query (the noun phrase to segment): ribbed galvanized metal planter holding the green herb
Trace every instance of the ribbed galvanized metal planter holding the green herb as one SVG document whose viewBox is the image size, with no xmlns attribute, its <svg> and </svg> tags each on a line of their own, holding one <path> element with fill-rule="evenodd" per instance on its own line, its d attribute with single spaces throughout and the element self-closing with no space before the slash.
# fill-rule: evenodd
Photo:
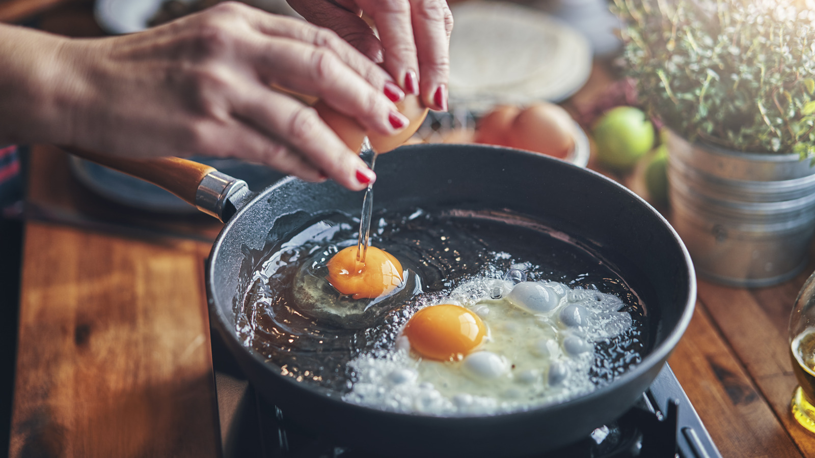
<svg viewBox="0 0 815 458">
<path fill-rule="evenodd" d="M 815 167 L 667 137 L 671 223 L 699 275 L 760 287 L 795 276 L 815 233 Z"/>
</svg>

